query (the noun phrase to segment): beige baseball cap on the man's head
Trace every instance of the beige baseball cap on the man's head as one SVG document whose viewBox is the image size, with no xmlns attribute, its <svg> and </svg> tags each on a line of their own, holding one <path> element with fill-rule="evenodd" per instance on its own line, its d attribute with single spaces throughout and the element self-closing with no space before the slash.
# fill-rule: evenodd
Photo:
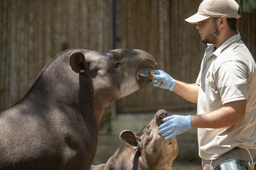
<svg viewBox="0 0 256 170">
<path fill-rule="evenodd" d="M 239 5 L 235 0 L 203 0 L 196 14 L 185 21 L 196 24 L 210 17 L 239 18 L 241 17 Z"/>
</svg>

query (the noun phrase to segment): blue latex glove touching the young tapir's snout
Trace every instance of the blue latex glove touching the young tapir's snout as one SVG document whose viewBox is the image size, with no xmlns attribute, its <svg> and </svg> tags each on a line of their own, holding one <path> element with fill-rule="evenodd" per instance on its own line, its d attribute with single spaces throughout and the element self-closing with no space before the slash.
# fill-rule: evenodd
<svg viewBox="0 0 256 170">
<path fill-rule="evenodd" d="M 182 134 L 191 128 L 191 115 L 171 115 L 163 119 L 165 123 L 159 126 L 162 136 L 166 136 L 165 139 L 170 139 L 176 135 Z"/>
</svg>

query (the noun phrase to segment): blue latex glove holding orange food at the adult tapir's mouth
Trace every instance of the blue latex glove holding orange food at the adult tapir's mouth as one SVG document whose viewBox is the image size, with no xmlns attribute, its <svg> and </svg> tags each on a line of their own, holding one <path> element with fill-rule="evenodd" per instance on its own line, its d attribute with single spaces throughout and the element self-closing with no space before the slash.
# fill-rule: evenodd
<svg viewBox="0 0 256 170">
<path fill-rule="evenodd" d="M 150 77 L 150 73 L 149 73 L 149 70 L 145 70 L 144 71 L 146 74 L 145 74 L 145 77 Z M 155 79 L 159 79 L 162 81 L 162 83 L 160 85 L 157 84 L 157 80 L 152 80 L 152 83 L 153 83 L 153 86 L 155 87 L 160 87 L 162 89 L 169 89 L 172 91 L 174 85 L 175 85 L 175 79 L 172 78 L 169 74 L 165 73 L 164 71 L 162 70 L 154 70 L 154 73 L 152 76 L 155 78 Z"/>
</svg>

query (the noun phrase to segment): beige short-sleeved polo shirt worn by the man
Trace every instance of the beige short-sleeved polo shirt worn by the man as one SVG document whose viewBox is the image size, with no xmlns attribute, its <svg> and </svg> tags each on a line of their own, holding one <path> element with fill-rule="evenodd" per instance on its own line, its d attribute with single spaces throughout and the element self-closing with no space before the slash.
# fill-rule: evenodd
<svg viewBox="0 0 256 170">
<path fill-rule="evenodd" d="M 256 64 L 240 34 L 214 52 L 208 44 L 196 83 L 200 85 L 197 114 L 215 111 L 223 104 L 247 99 L 242 123 L 220 129 L 198 128 L 199 156 L 218 159 L 239 144 L 256 149 Z M 242 148 L 242 147 L 241 147 Z"/>
</svg>

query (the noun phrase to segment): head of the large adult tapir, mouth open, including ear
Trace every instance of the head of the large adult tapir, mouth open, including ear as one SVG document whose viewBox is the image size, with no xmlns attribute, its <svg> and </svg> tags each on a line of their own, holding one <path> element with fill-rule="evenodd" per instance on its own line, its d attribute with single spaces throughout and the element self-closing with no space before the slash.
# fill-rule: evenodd
<svg viewBox="0 0 256 170">
<path fill-rule="evenodd" d="M 137 49 L 74 51 L 69 63 L 74 72 L 91 79 L 96 94 L 110 101 L 142 89 L 151 80 L 141 72 L 156 67 L 149 53 Z"/>
</svg>

